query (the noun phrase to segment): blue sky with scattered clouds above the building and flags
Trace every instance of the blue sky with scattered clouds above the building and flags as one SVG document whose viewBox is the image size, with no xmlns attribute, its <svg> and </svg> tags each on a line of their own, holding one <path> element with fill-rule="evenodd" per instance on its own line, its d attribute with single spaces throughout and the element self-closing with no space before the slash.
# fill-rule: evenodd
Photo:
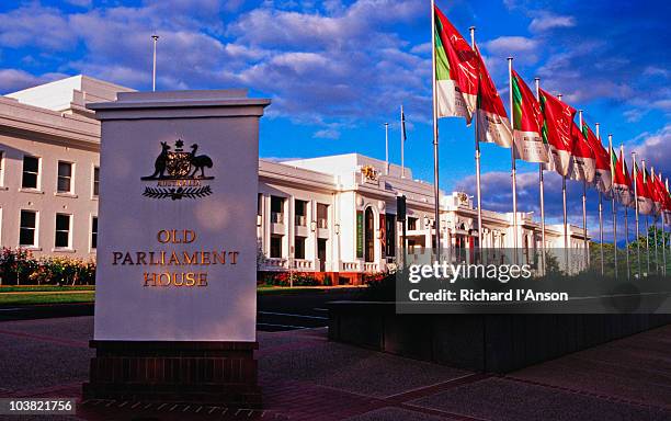
<svg viewBox="0 0 671 421">
<path fill-rule="evenodd" d="M 671 171 L 671 5 L 666 1 L 436 1 L 464 34 L 475 25 L 507 98 L 505 57 L 528 83 L 562 93 L 615 144 Z M 248 87 L 273 99 L 261 156 L 357 151 L 399 161 L 398 114 L 408 121 L 406 163 L 432 180 L 430 7 L 427 0 L 65 0 L 0 3 L 0 93 L 84 73 L 138 90 Z M 441 186 L 473 192 L 474 134 L 443 118 Z M 485 205 L 509 210 L 510 155 L 482 146 Z M 537 170 L 520 163 L 521 208 L 537 212 Z M 547 177 L 558 221 L 560 180 Z M 575 185 L 573 185 L 575 184 Z M 571 183 L 571 221 L 581 186 Z M 590 225 L 595 221 L 590 195 Z"/>
</svg>

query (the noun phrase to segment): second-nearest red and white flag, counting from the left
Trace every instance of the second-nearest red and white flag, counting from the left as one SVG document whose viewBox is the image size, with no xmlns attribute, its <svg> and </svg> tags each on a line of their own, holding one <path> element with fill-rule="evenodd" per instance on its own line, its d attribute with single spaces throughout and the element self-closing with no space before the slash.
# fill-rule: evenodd
<svg viewBox="0 0 671 421">
<path fill-rule="evenodd" d="M 476 117 L 478 120 L 478 140 L 488 144 L 497 144 L 504 148 L 512 147 L 512 129 L 510 120 L 505 113 L 503 101 L 499 96 L 497 87 L 485 67 L 480 50 L 476 46 L 480 77 L 478 79 L 478 106 Z"/>
</svg>

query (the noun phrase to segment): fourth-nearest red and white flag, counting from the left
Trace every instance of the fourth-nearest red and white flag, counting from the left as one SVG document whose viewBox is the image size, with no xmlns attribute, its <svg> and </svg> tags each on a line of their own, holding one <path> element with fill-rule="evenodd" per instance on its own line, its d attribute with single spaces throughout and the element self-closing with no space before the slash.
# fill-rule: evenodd
<svg viewBox="0 0 671 421">
<path fill-rule="evenodd" d="M 549 146 L 547 169 L 557 171 L 559 175 L 568 175 L 573 148 L 571 123 L 576 116 L 576 109 L 543 89 L 539 89 L 538 93 L 544 116 L 543 140 Z"/>
</svg>

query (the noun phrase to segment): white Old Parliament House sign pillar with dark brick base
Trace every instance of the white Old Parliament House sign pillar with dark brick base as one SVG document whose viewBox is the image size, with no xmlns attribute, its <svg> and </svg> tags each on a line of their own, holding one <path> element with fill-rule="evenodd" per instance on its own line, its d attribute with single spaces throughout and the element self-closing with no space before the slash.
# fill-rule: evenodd
<svg viewBox="0 0 671 421">
<path fill-rule="evenodd" d="M 257 192 L 269 104 L 220 90 L 89 105 L 102 140 L 84 396 L 260 405 Z"/>
</svg>

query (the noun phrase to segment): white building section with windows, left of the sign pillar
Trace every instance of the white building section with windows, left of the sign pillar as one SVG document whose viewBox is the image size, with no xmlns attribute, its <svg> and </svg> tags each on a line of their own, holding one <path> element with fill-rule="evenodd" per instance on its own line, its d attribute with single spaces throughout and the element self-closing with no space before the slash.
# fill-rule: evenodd
<svg viewBox="0 0 671 421">
<path fill-rule="evenodd" d="M 0 96 L 0 243 L 94 257 L 100 123 L 87 102 L 128 88 L 76 76 Z"/>
</svg>

